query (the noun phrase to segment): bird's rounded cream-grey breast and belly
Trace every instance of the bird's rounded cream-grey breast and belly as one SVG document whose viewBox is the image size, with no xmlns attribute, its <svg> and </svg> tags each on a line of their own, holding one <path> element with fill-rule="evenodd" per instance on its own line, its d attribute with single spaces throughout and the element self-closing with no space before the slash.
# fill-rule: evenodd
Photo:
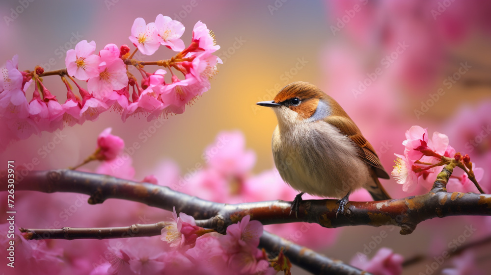
<svg viewBox="0 0 491 275">
<path fill-rule="evenodd" d="M 326 122 L 279 124 L 272 147 L 281 177 L 299 191 L 341 198 L 369 180 L 353 142 Z"/>
</svg>

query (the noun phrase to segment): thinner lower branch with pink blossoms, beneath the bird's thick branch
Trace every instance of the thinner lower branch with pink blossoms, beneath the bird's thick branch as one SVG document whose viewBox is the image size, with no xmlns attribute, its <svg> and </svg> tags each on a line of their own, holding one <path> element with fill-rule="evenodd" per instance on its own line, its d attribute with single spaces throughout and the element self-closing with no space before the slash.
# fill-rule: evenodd
<svg viewBox="0 0 491 275">
<path fill-rule="evenodd" d="M 182 246 L 187 249 L 192 249 L 195 246 L 196 239 L 204 233 L 208 233 L 210 229 L 204 229 L 196 226 L 192 217 L 180 213 L 179 217 L 174 210 L 175 228 L 178 224 L 185 224 L 182 231 L 187 232 L 182 234 L 178 232 L 168 232 L 166 228 L 172 227 L 172 223 L 160 222 L 153 225 L 131 225 L 128 227 L 111 227 L 111 228 L 70 228 L 63 227 L 61 229 L 25 229 L 20 228 L 23 236 L 28 240 L 43 240 L 46 236 L 50 239 L 111 239 L 111 238 L 136 238 L 145 236 L 162 235 L 161 239 L 169 241 L 174 246 Z M 262 260 L 268 260 L 277 271 L 285 271 L 291 268 L 291 263 L 305 269 L 312 274 L 339 274 L 339 275 L 370 275 L 366 271 L 361 271 L 353 266 L 344 264 L 339 260 L 330 259 L 322 254 L 299 246 L 293 242 L 285 240 L 268 231 L 258 232 L 262 229 L 262 225 L 257 221 L 250 221 L 250 216 L 245 216 L 242 221 L 237 224 L 230 225 L 227 228 L 225 238 L 232 239 L 222 241 L 224 244 L 233 241 L 234 237 L 246 236 L 246 242 L 250 242 L 250 249 L 256 247 L 264 249 L 273 257 L 261 254 Z M 187 222 L 184 222 L 186 220 Z M 191 224 L 190 224 L 191 223 Z M 241 224 L 244 227 L 241 229 Z M 186 230 L 186 226 L 188 230 Z M 178 237 L 175 237 L 177 233 Z M 41 235 L 40 235 L 41 234 Z M 259 237 L 260 238 L 257 238 Z M 259 240 L 259 242 L 258 242 Z M 171 245 L 172 246 L 172 245 Z M 286 257 L 285 257 L 286 256 Z M 291 259 L 291 260 L 290 260 Z"/>
</svg>

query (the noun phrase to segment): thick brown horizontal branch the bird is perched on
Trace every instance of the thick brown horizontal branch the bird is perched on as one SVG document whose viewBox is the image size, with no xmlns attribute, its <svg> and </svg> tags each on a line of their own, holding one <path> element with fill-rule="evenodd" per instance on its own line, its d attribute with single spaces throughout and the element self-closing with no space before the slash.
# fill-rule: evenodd
<svg viewBox="0 0 491 275">
<path fill-rule="evenodd" d="M 452 168 L 443 169 L 427 194 L 384 201 L 351 201 L 345 207 L 346 215 L 339 215 L 338 218 L 335 217 L 336 200 L 303 200 L 297 218 L 290 214 L 291 202 L 288 201 L 217 203 L 168 187 L 72 170 L 32 171 L 16 185 L 16 189 L 82 193 L 90 195 L 88 202 L 91 204 L 114 198 L 138 201 L 169 211 L 175 206 L 177 212 L 187 213 L 198 220 L 197 225 L 213 228 L 220 233 L 245 215 L 251 215 L 251 219 L 263 225 L 295 222 L 318 223 L 329 228 L 397 225 L 401 226 L 401 234 L 409 234 L 417 224 L 432 218 L 491 215 L 491 195 L 446 192 L 445 185 Z"/>
</svg>

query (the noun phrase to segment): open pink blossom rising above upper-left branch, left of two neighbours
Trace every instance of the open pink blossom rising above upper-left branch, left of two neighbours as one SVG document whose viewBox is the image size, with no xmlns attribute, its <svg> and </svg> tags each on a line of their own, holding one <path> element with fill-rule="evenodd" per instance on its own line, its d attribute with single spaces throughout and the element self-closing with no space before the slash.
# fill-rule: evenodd
<svg viewBox="0 0 491 275">
<path fill-rule="evenodd" d="M 93 40 L 90 43 L 82 40 L 75 45 L 75 50 L 67 50 L 65 65 L 68 75 L 73 75 L 80 80 L 99 75 L 97 72 L 99 58 L 93 54 L 94 51 L 95 42 Z"/>
</svg>

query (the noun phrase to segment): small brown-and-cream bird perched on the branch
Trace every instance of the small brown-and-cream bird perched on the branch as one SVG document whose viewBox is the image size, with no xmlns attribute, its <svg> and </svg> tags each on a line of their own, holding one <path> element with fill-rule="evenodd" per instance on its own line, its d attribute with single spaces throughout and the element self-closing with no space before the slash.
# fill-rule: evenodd
<svg viewBox="0 0 491 275">
<path fill-rule="evenodd" d="M 344 214 L 349 195 L 364 187 L 374 200 L 390 200 L 378 177 L 389 178 L 372 145 L 341 106 L 308 82 L 286 85 L 273 101 L 278 125 L 273 132 L 274 164 L 285 182 L 300 194 L 338 198 Z M 291 213 L 291 212 L 290 212 Z"/>
</svg>

